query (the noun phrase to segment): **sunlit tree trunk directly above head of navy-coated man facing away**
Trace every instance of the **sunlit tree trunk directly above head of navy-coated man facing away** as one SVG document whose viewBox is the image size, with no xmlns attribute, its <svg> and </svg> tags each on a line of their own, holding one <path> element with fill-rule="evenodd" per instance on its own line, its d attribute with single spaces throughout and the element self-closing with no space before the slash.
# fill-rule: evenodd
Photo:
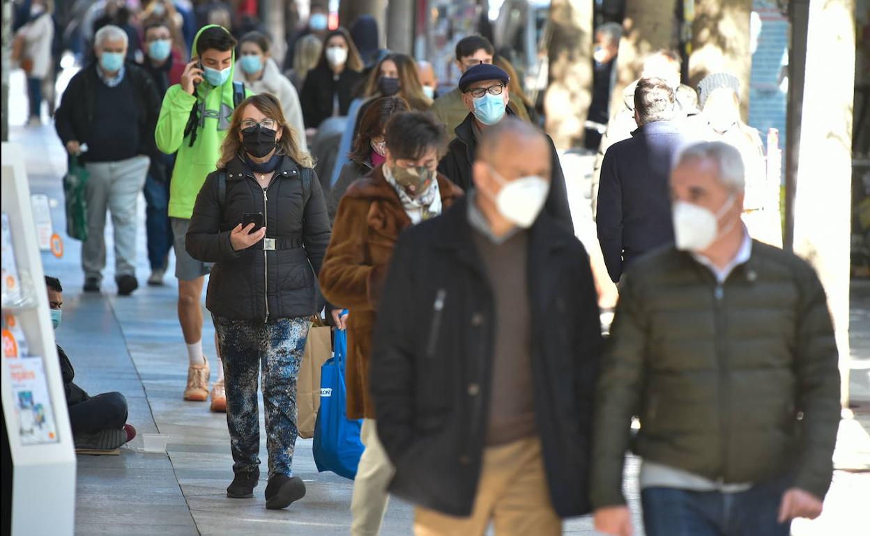
<svg viewBox="0 0 870 536">
<path fill-rule="evenodd" d="M 656 50 L 673 48 L 676 0 L 627 0 L 624 33 L 616 56 L 616 83 L 613 85 L 610 113 L 622 109 L 626 86 L 640 77 L 644 59 Z"/>
</svg>

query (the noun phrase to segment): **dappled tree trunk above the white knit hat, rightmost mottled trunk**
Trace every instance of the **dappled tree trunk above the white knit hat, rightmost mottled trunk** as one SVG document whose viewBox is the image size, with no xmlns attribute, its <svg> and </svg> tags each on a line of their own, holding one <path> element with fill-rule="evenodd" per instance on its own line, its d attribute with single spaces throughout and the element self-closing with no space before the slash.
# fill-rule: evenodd
<svg viewBox="0 0 870 536">
<path fill-rule="evenodd" d="M 704 76 L 726 72 L 740 80 L 740 114 L 749 116 L 749 14 L 752 0 L 695 0 L 689 79 L 693 88 Z"/>
</svg>

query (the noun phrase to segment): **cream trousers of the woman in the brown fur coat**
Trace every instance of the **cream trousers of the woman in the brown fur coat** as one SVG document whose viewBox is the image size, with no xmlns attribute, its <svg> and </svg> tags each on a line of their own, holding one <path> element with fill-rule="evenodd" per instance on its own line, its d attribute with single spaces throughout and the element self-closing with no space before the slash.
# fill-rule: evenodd
<svg viewBox="0 0 870 536">
<path fill-rule="evenodd" d="M 359 439 L 365 450 L 359 458 L 357 478 L 353 480 L 351 536 L 377 536 L 390 500 L 386 488 L 395 469 L 378 440 L 376 420 L 363 420 Z"/>
</svg>

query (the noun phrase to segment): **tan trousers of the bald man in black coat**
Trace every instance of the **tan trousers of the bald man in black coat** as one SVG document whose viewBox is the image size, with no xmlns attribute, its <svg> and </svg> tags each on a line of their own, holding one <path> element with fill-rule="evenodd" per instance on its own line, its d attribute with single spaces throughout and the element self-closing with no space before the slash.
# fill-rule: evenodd
<svg viewBox="0 0 870 536">
<path fill-rule="evenodd" d="M 414 509 L 416 536 L 482 536 L 492 520 L 496 536 L 552 536 L 562 519 L 552 509 L 537 436 L 484 451 L 471 517 Z"/>
</svg>

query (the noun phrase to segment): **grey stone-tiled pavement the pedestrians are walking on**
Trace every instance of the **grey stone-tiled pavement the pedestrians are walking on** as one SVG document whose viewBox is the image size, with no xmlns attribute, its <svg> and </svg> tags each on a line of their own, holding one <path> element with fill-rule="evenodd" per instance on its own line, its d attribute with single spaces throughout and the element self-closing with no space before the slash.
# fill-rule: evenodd
<svg viewBox="0 0 870 536">
<path fill-rule="evenodd" d="M 20 71 L 10 80 L 10 119 L 26 120 L 24 80 Z M 44 117 L 48 122 L 48 118 Z M 14 126 L 11 142 L 26 157 L 32 193 L 49 195 L 56 231 L 64 235 L 61 177 L 66 160 L 53 125 Z M 585 196 L 588 159 L 563 160 L 578 234 L 594 233 L 589 217 L 578 211 Z M 591 217 L 591 215 L 590 215 Z M 176 282 L 171 264 L 166 286 L 149 288 L 145 253 L 144 199 L 139 201 L 137 276 L 142 287 L 132 297 L 117 297 L 110 224 L 107 226 L 107 266 L 103 294 L 82 294 L 80 244 L 64 240 L 64 256 L 43 254 L 46 274 L 64 284 L 64 324 L 57 340 L 76 366 L 76 380 L 90 393 L 121 391 L 130 404 L 130 420 L 139 433 L 171 435 L 167 454 L 144 454 L 140 439 L 120 456 L 79 456 L 77 481 L 78 534 L 346 534 L 350 526 L 352 482 L 332 473 L 318 473 L 311 457 L 311 440 L 299 440 L 294 471 L 308 486 L 304 500 L 284 511 L 266 511 L 261 481 L 254 499 L 231 500 L 224 488 L 231 480 L 231 455 L 224 415 L 211 414 L 208 404 L 181 399 L 186 378 L 186 353 L 177 326 Z M 204 347 L 214 365 L 213 330 L 205 321 Z M 851 386 L 856 420 L 844 421 L 838 462 L 853 469 L 870 469 L 870 283 L 853 284 L 853 370 Z M 214 373 L 212 374 L 214 379 Z M 861 426 L 861 424 L 863 426 Z M 264 437 L 264 433 L 261 433 Z M 265 473 L 266 454 L 260 454 Z M 636 514 L 639 508 L 635 460 L 626 473 L 626 493 Z M 870 473 L 838 471 L 826 510 L 814 522 L 793 524 L 795 536 L 865 536 L 870 526 L 867 500 Z M 382 533 L 408 534 L 412 509 L 393 500 Z M 566 533 L 596 534 L 591 519 L 566 522 Z"/>
</svg>

